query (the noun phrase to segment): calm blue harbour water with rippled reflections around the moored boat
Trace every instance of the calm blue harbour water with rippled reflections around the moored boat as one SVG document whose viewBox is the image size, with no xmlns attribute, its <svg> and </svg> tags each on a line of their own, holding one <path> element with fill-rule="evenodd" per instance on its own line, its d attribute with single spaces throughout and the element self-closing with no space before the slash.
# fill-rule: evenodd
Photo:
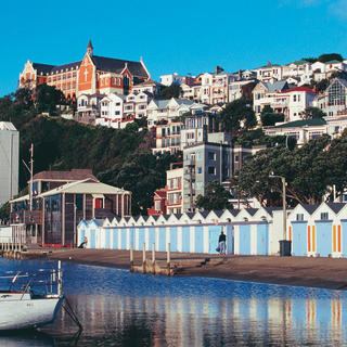
<svg viewBox="0 0 347 347">
<path fill-rule="evenodd" d="M 52 267 L 0 258 L 0 273 Z M 0 346 L 347 346 L 346 292 L 62 268 L 80 336 L 62 310 L 41 333 L 1 334 Z"/>
</svg>

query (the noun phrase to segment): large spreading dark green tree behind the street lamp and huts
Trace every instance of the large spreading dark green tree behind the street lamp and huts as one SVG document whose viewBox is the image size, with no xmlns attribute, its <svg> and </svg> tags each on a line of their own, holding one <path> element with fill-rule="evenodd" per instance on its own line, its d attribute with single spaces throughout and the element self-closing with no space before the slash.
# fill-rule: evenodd
<svg viewBox="0 0 347 347">
<path fill-rule="evenodd" d="M 333 184 L 329 170 L 329 137 L 323 136 L 293 151 L 278 146 L 258 152 L 239 172 L 239 187 L 262 205 L 271 204 L 282 194 L 280 180 L 269 179 L 270 172 L 274 172 L 285 177 L 288 201 L 319 203 Z"/>
</svg>

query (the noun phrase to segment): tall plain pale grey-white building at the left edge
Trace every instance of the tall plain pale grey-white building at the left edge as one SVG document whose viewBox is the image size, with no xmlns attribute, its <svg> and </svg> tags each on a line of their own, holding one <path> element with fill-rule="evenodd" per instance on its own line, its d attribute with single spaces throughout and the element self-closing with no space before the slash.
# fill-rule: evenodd
<svg viewBox="0 0 347 347">
<path fill-rule="evenodd" d="M 0 121 L 0 206 L 18 194 L 20 132 Z"/>
</svg>

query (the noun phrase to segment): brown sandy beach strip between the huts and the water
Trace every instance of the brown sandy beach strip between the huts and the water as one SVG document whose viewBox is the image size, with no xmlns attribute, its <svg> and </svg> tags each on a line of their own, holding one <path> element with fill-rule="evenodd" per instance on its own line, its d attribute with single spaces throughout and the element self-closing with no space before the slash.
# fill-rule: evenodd
<svg viewBox="0 0 347 347">
<path fill-rule="evenodd" d="M 54 249 L 48 253 L 48 258 L 121 269 L 130 268 L 129 250 Z M 146 259 L 151 260 L 151 252 L 146 253 Z M 205 264 L 206 259 L 209 261 Z M 141 265 L 142 252 L 133 252 L 133 260 L 134 265 Z M 156 260 L 165 267 L 166 253 L 157 252 Z M 347 290 L 347 259 L 345 258 L 171 253 L 171 264 L 177 267 L 178 275 Z"/>
</svg>

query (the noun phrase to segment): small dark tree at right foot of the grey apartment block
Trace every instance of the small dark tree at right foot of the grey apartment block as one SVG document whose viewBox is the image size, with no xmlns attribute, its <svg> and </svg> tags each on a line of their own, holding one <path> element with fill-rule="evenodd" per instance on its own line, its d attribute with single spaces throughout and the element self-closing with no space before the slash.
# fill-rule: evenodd
<svg viewBox="0 0 347 347">
<path fill-rule="evenodd" d="M 229 202 L 231 194 L 218 181 L 209 182 L 205 195 L 197 195 L 195 205 L 205 210 L 233 208 Z"/>
</svg>

